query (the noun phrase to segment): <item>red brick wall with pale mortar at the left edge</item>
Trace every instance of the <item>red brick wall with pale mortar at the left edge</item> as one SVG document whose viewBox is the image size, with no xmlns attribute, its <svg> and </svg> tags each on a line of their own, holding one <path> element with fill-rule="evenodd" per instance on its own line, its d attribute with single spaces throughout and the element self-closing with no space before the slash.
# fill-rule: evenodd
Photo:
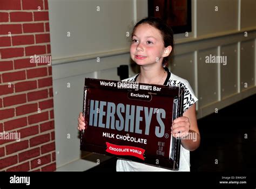
<svg viewBox="0 0 256 189">
<path fill-rule="evenodd" d="M 0 1 L 0 171 L 54 171 L 47 0 Z"/>
</svg>

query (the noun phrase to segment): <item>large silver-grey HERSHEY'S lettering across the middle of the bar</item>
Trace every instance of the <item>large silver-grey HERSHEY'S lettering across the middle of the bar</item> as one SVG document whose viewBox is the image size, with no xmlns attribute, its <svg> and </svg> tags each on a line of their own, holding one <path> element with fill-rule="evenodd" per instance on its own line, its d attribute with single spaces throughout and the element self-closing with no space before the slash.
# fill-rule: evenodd
<svg viewBox="0 0 256 189">
<path fill-rule="evenodd" d="M 105 106 L 106 108 L 104 108 Z M 106 109 L 106 111 L 104 111 L 104 109 Z M 144 111 L 143 117 L 140 116 L 141 111 Z M 124 113 L 125 117 L 123 117 L 122 113 Z M 124 105 L 123 103 L 118 103 L 116 105 L 113 102 L 91 100 L 89 125 L 149 135 L 153 114 L 156 116 L 159 124 L 155 126 L 155 134 L 159 138 L 163 137 L 165 125 L 162 118 L 165 118 L 165 110 L 161 108 L 149 108 L 130 104 Z M 117 115 L 118 119 L 116 119 L 114 115 Z M 106 116 L 105 123 L 103 123 L 103 116 Z M 145 119 L 145 128 L 142 128 L 140 125 L 143 118 Z"/>
</svg>

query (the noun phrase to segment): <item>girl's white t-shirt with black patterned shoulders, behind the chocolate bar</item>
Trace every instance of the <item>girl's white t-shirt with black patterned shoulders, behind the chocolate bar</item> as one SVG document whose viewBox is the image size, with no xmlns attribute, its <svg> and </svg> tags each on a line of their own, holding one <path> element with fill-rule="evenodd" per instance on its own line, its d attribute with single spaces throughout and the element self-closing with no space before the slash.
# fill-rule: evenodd
<svg viewBox="0 0 256 189">
<path fill-rule="evenodd" d="M 193 89 L 190 86 L 190 83 L 180 78 L 177 75 L 174 75 L 169 71 L 168 68 L 165 68 L 167 71 L 167 78 L 164 82 L 166 86 L 175 86 L 175 87 L 184 87 L 184 103 L 183 103 L 183 111 L 185 112 L 189 107 L 191 107 L 194 103 L 198 101 L 197 97 L 194 95 Z M 132 76 L 131 78 L 127 78 L 124 81 L 136 81 L 137 75 Z M 180 162 L 179 162 L 179 171 L 190 171 L 190 151 L 180 146 Z M 169 169 L 163 169 L 156 166 L 146 165 L 143 163 L 132 162 L 130 160 L 117 160 L 117 171 L 172 171 Z"/>
</svg>

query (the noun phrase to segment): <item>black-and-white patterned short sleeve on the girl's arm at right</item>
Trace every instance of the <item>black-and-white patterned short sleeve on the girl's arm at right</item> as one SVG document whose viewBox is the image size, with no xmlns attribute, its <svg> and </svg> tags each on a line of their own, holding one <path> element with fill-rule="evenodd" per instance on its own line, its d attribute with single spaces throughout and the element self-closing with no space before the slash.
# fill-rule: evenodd
<svg viewBox="0 0 256 189">
<path fill-rule="evenodd" d="M 194 103 L 198 101 L 196 95 L 194 95 L 193 89 L 190 86 L 190 83 L 185 80 L 183 86 L 185 88 L 184 92 L 184 101 L 183 101 L 183 112 L 185 112 L 188 108 L 190 108 Z"/>
</svg>

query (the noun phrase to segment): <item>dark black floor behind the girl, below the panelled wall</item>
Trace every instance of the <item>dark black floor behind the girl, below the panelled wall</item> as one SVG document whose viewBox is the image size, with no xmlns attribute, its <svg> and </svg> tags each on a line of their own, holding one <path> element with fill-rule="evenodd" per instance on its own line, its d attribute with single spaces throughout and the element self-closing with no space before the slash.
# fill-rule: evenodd
<svg viewBox="0 0 256 189">
<path fill-rule="evenodd" d="M 191 172 L 254 172 L 256 169 L 256 95 L 198 120 L 201 144 L 191 152 Z M 115 172 L 111 158 L 88 172 Z"/>
</svg>

